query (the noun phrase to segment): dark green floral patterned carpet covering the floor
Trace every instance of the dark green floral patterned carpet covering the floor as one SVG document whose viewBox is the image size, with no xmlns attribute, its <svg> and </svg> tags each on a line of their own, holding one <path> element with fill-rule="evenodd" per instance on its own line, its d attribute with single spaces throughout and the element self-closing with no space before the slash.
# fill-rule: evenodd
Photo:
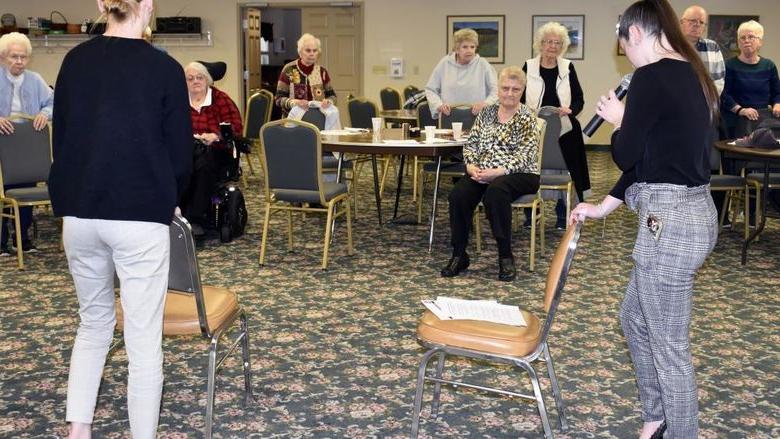
<svg viewBox="0 0 780 439">
<path fill-rule="evenodd" d="M 591 152 L 594 199 L 616 179 L 609 155 Z M 256 166 L 256 168 L 258 168 Z M 432 254 L 425 226 L 379 227 L 363 175 L 355 250 L 346 254 L 337 225 L 330 267 L 319 269 L 323 221 L 297 220 L 296 249 L 286 251 L 281 218 L 272 225 L 265 267 L 257 263 L 260 178 L 250 176 L 248 234 L 233 243 L 206 243 L 199 257 L 206 284 L 238 293 L 249 315 L 256 402 L 242 404 L 238 356 L 218 379 L 215 436 L 401 438 L 410 428 L 421 298 L 450 295 L 495 298 L 540 312 L 550 249 L 561 232 L 548 221 L 547 253 L 526 271 L 528 232 L 516 233 L 517 280 L 496 280 L 497 257 L 483 221 L 486 248 L 472 252 L 466 275 L 439 277 L 449 256 L 446 202 Z M 444 191 L 451 185 L 445 182 Z M 388 191 L 389 193 L 389 191 Z M 402 196 L 403 213 L 414 206 Z M 388 196 L 385 212 L 391 205 Z M 552 208 L 548 208 L 552 214 Z M 0 260 L 0 436 L 63 437 L 70 350 L 78 316 L 76 296 L 57 221 L 39 212 L 39 253 L 28 269 Z M 567 404 L 570 429 L 557 427 L 549 382 L 542 381 L 551 422 L 562 438 L 636 437 L 641 420 L 628 349 L 617 313 L 631 266 L 635 216 L 625 207 L 606 222 L 588 222 L 569 275 L 550 346 Z M 697 282 L 691 327 L 703 438 L 780 437 L 780 312 L 777 292 L 778 221 L 740 265 L 740 236 L 725 231 Z M 160 436 L 197 437 L 205 411 L 206 342 L 165 338 L 165 389 Z M 129 437 L 126 356 L 109 358 L 94 422 L 95 437 Z M 525 376 L 506 367 L 448 362 L 447 374 L 485 384 L 528 389 Z M 430 396 L 430 393 L 427 394 Z M 541 437 L 535 405 L 469 389 L 444 387 L 438 419 L 423 412 L 424 437 Z"/>
</svg>

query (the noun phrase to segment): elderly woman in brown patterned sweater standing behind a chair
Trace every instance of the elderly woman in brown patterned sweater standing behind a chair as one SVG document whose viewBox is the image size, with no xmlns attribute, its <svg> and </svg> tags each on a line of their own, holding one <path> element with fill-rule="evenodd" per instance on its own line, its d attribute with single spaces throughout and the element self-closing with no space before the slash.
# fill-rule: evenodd
<svg viewBox="0 0 780 439">
<path fill-rule="evenodd" d="M 311 108 L 325 115 L 325 129 L 340 129 L 336 92 L 325 67 L 317 63 L 322 52 L 319 38 L 303 34 L 298 39 L 298 59 L 287 63 L 279 74 L 274 102 L 285 117 L 300 119 Z"/>
</svg>

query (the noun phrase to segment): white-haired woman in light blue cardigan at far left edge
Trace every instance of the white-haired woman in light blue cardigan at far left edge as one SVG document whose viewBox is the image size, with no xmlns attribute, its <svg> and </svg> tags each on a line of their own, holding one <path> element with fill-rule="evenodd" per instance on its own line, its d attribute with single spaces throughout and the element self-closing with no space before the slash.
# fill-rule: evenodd
<svg viewBox="0 0 780 439">
<path fill-rule="evenodd" d="M 14 114 L 34 116 L 33 127 L 36 130 L 44 129 L 51 119 L 54 94 L 41 75 L 26 70 L 31 54 L 32 45 L 26 35 L 11 32 L 0 37 L 0 58 L 3 61 L 0 64 L 0 135 L 13 135 Z M 8 185 L 5 189 L 18 187 Z M 35 245 L 27 236 L 27 229 L 32 224 L 32 208 L 21 208 L 19 216 L 22 250 L 34 252 Z M 0 228 L 0 256 L 8 256 L 10 253 L 7 218 L 4 217 Z"/>
</svg>

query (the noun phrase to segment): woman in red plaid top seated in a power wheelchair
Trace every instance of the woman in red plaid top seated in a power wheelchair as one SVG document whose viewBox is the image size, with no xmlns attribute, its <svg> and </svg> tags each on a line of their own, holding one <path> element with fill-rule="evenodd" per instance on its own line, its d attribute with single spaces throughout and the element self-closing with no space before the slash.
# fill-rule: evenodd
<svg viewBox="0 0 780 439">
<path fill-rule="evenodd" d="M 179 204 L 192 224 L 193 235 L 203 235 L 211 196 L 217 184 L 225 179 L 227 170 L 235 164 L 222 139 L 219 124 L 229 123 L 236 134 L 244 129 L 235 102 L 213 86 L 215 80 L 222 79 L 225 70 L 225 63 L 202 61 L 191 62 L 184 68 L 193 137 L 206 146 L 195 160 L 190 184 Z"/>
</svg>

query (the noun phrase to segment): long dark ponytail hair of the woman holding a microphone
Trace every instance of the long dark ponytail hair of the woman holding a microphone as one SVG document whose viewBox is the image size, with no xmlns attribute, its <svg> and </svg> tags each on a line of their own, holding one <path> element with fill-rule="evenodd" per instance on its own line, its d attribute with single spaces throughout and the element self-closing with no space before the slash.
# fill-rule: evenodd
<svg viewBox="0 0 780 439">
<path fill-rule="evenodd" d="M 715 84 L 704 67 L 704 63 L 699 58 L 698 52 L 683 36 L 677 15 L 669 2 L 667 0 L 640 0 L 632 4 L 620 18 L 618 36 L 623 40 L 628 40 L 628 28 L 631 25 L 640 26 L 649 35 L 656 36 L 660 44 L 663 44 L 661 35 L 666 35 L 666 40 L 672 46 L 671 50 L 682 55 L 693 67 L 704 91 L 712 120 L 717 121 L 720 100 L 718 91 L 715 89 Z"/>
</svg>

